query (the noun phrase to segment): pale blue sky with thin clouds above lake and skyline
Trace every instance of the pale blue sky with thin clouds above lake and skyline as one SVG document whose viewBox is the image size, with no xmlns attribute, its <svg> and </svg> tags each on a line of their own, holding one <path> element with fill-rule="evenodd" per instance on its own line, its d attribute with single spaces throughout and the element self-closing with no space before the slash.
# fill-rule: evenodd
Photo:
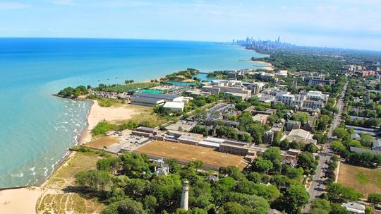
<svg viewBox="0 0 381 214">
<path fill-rule="evenodd" d="M 246 36 L 381 50 L 381 0 L 0 0 L 0 37 L 226 42 Z"/>
</svg>

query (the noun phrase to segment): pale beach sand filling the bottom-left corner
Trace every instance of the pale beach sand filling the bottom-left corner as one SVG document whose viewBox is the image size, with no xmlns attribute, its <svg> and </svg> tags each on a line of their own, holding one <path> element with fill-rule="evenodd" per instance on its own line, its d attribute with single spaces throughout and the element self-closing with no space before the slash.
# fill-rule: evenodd
<svg viewBox="0 0 381 214">
<path fill-rule="evenodd" d="M 36 203 L 44 189 L 25 187 L 0 191 L 0 213 L 36 213 Z"/>
</svg>

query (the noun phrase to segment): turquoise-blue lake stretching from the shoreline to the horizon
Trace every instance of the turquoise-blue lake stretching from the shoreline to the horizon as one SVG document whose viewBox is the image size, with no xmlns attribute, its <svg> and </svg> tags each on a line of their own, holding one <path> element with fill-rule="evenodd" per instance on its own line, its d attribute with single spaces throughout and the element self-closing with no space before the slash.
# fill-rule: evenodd
<svg viewBox="0 0 381 214">
<path fill-rule="evenodd" d="M 243 69 L 241 47 L 159 40 L 0 39 L 0 187 L 37 185 L 85 128 L 89 102 L 53 97 L 68 85 L 158 78 L 179 69 Z"/>
</svg>

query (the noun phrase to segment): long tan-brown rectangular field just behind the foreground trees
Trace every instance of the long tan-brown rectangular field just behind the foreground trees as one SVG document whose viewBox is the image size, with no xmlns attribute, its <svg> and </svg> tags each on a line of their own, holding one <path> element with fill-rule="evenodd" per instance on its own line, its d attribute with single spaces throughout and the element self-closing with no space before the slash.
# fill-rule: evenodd
<svg viewBox="0 0 381 214">
<path fill-rule="evenodd" d="M 176 160 L 183 161 L 201 160 L 205 165 L 213 165 L 216 167 L 234 165 L 243 169 L 243 167 L 246 166 L 246 164 L 242 161 L 243 156 L 219 153 L 213 148 L 188 145 L 185 143 L 152 141 L 151 143 L 141 146 L 135 151 L 145 153 L 147 155 L 175 158 Z"/>
</svg>

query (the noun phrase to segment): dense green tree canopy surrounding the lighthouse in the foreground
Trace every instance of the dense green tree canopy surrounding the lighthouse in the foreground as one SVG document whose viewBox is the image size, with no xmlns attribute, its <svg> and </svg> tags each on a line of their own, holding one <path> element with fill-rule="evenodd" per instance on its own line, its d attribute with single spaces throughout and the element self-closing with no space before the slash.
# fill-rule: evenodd
<svg viewBox="0 0 381 214">
<path fill-rule="evenodd" d="M 301 181 L 303 170 L 315 164 L 310 153 L 299 160 L 302 167 L 282 165 L 279 148 L 270 148 L 243 172 L 237 167 L 221 167 L 219 180 L 205 181 L 212 174 L 202 162 L 179 165 L 167 160 L 170 173 L 153 174 L 155 165 L 146 155 L 123 153 L 98 160 L 97 170 L 80 172 L 76 183 L 105 201 L 103 213 L 268 213 L 276 207 L 299 213 L 308 203 Z M 156 166 L 157 167 L 157 166 Z M 179 210 L 182 181 L 190 182 L 190 210 Z"/>
</svg>

